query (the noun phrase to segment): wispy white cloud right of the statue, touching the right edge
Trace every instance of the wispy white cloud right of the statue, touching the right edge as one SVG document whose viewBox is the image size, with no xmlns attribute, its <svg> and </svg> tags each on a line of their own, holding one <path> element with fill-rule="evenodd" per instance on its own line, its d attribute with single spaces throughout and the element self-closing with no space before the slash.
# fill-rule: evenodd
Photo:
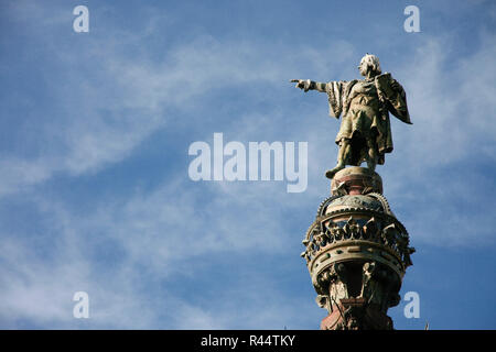
<svg viewBox="0 0 496 352">
<path fill-rule="evenodd" d="M 490 64 L 496 54 L 494 35 L 483 34 L 481 48 L 463 58 L 446 43 L 440 37 L 425 41 L 408 65 L 405 85 L 414 128 L 400 130 L 398 139 L 408 141 L 401 144 L 405 158 L 417 166 L 462 161 L 479 153 L 481 145 L 494 146 L 496 139 L 488 113 L 495 110 L 490 98 L 495 87 L 488 78 L 496 74 Z"/>
</svg>

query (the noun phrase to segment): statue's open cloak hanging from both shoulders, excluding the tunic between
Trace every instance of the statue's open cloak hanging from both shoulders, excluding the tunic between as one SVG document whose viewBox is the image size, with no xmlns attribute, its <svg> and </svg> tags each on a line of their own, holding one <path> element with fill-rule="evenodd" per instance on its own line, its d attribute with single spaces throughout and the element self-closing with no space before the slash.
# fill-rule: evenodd
<svg viewBox="0 0 496 352">
<path fill-rule="evenodd" d="M 351 81 L 330 81 L 326 84 L 330 116 L 336 119 L 338 119 L 339 116 L 343 116 L 339 133 L 337 134 L 335 141 L 336 144 L 339 144 L 343 138 L 351 139 L 355 132 L 354 130 L 348 131 L 346 129 L 349 129 L 352 125 L 349 123 L 349 120 L 353 119 L 353 116 L 349 112 L 349 105 L 353 99 L 351 92 L 357 82 L 358 80 L 354 79 Z M 396 82 L 397 85 L 392 85 L 392 82 Z M 376 76 L 374 84 L 379 103 L 378 107 L 376 107 L 377 111 L 375 111 L 376 113 L 374 114 L 374 118 L 369 121 L 369 128 L 370 131 L 374 131 L 371 135 L 375 136 L 377 151 L 379 153 L 378 164 L 384 164 L 385 154 L 392 152 L 392 135 L 389 112 L 405 123 L 411 124 L 411 122 L 410 114 L 408 112 L 407 96 L 401 85 L 399 85 L 390 74 Z M 396 89 L 393 89 L 392 87 L 396 86 Z M 362 161 L 365 161 L 364 153 L 357 156 L 353 164 L 359 165 Z"/>
</svg>

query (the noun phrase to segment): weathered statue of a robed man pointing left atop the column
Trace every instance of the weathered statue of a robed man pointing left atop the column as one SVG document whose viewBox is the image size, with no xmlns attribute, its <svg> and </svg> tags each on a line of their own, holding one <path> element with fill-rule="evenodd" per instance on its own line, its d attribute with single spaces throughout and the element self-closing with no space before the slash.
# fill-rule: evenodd
<svg viewBox="0 0 496 352">
<path fill-rule="evenodd" d="M 365 161 L 367 167 L 375 170 L 377 164 L 384 164 L 385 154 L 392 152 L 389 112 L 411 124 L 405 90 L 390 74 L 381 74 L 379 58 L 365 55 L 358 69 L 365 79 L 330 82 L 291 80 L 305 92 L 326 92 L 330 116 L 338 119 L 343 114 L 335 140 L 339 145 L 337 165 L 325 173 L 328 178 L 346 165 L 359 166 Z"/>
</svg>

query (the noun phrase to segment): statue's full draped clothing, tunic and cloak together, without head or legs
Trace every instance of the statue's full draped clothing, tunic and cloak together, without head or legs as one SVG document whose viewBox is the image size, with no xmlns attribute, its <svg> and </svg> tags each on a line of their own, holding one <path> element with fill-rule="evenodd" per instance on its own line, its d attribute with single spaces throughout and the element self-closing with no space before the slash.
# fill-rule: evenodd
<svg viewBox="0 0 496 352">
<path fill-rule="evenodd" d="M 392 81 L 390 74 L 385 74 L 375 79 L 330 81 L 325 85 L 330 116 L 336 119 L 343 116 L 336 144 L 348 139 L 352 140 L 352 150 L 355 147 L 352 165 L 359 165 L 368 152 L 363 142 L 359 151 L 356 150 L 354 136 L 374 141 L 378 164 L 384 164 L 385 154 L 392 152 L 389 111 L 401 121 L 411 123 L 405 90 L 399 84 L 397 90 L 391 89 Z"/>
</svg>

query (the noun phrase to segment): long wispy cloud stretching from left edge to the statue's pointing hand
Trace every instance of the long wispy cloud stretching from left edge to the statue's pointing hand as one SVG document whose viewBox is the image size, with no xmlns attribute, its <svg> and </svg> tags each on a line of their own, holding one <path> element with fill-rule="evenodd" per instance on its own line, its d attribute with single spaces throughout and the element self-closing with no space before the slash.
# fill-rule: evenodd
<svg viewBox="0 0 496 352">
<path fill-rule="evenodd" d="M 61 9 L 30 7 L 31 11 L 12 10 L 12 14 L 26 22 L 43 18 L 50 25 L 62 24 Z M 51 21 L 52 16 L 58 20 Z M 155 16 L 160 20 L 162 15 Z M 148 58 L 148 48 L 140 46 L 148 35 L 160 31 L 163 23 L 155 16 L 144 32 L 108 29 L 110 33 L 91 37 L 80 51 L 61 40 L 30 33 L 61 65 L 55 77 L 45 79 L 63 79 L 64 84 L 47 86 L 56 114 L 34 107 L 34 119 L 45 122 L 36 136 L 36 145 L 43 146 L 41 155 L 7 155 L 9 161 L 0 164 L 2 194 L 45 182 L 57 172 L 77 176 L 120 162 L 151 133 L 170 127 L 175 118 L 171 111 L 191 109 L 196 97 L 209 91 L 247 82 L 255 87 L 283 85 L 289 73 L 302 67 L 327 67 L 330 52 L 342 53 L 345 61 L 353 51 L 346 42 L 322 53 L 282 44 L 260 47 L 250 42 L 219 42 L 205 34 L 177 44 L 164 53 L 162 62 L 155 62 Z M 137 52 L 132 57 L 122 56 L 125 47 Z M 294 51 L 304 55 L 289 55 Z"/>
</svg>

